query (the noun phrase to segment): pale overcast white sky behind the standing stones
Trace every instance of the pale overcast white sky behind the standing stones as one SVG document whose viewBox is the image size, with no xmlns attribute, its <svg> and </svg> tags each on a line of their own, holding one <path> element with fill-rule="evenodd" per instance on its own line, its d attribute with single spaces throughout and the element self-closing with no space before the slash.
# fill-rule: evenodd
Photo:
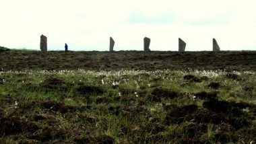
<svg viewBox="0 0 256 144">
<path fill-rule="evenodd" d="M 255 0 L 0 0 L 0 46 L 40 50 L 256 50 Z"/>
</svg>

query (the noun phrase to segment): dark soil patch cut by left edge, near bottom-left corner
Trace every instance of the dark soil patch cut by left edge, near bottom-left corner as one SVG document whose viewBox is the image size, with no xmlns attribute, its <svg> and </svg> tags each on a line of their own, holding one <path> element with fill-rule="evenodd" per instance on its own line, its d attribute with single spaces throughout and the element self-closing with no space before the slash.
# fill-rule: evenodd
<svg viewBox="0 0 256 144">
<path fill-rule="evenodd" d="M 38 126 L 34 122 L 30 122 L 28 120 L 23 120 L 18 116 L 11 116 L 7 118 L 0 118 L 0 134 L 1 135 L 13 135 L 16 133 L 21 133 L 25 131 L 29 131 L 30 133 L 34 133 L 38 130 Z"/>
</svg>

